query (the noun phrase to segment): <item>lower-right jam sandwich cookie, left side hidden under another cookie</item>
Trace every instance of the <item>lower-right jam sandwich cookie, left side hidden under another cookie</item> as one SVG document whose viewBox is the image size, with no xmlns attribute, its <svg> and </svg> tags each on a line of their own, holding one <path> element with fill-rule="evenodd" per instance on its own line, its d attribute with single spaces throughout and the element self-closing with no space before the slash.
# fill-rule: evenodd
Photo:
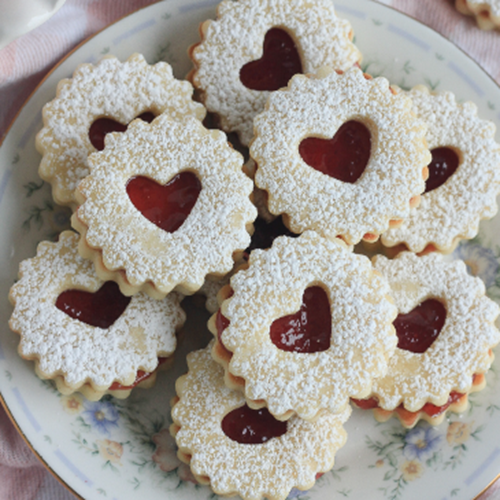
<svg viewBox="0 0 500 500">
<path fill-rule="evenodd" d="M 500 341 L 494 324 L 500 309 L 462 261 L 403 252 L 394 260 L 377 256 L 374 266 L 389 280 L 399 310 L 398 347 L 371 396 L 354 402 L 373 408 L 380 421 L 396 415 L 405 427 L 421 418 L 439 424 L 484 387 L 491 349 Z"/>
</svg>

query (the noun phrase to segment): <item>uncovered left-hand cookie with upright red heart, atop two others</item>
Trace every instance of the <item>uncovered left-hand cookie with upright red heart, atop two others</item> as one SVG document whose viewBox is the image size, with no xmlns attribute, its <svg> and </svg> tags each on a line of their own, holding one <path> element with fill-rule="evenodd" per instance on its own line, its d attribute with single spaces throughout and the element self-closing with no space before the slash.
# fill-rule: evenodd
<svg viewBox="0 0 500 500">
<path fill-rule="evenodd" d="M 219 130 L 164 113 L 108 136 L 89 157 L 72 224 L 80 253 L 122 293 L 196 292 L 228 273 L 250 243 L 257 211 L 243 158 Z"/>
</svg>

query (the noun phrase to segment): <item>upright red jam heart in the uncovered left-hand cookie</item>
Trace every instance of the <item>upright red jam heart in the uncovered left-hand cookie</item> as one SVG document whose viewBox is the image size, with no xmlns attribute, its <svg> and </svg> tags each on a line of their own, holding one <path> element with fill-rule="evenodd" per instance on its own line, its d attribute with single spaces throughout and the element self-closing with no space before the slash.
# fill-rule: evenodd
<svg viewBox="0 0 500 500">
<path fill-rule="evenodd" d="M 135 208 L 159 228 L 173 233 L 191 213 L 201 191 L 201 182 L 192 172 L 181 172 L 162 186 L 148 177 L 133 177 L 127 194 Z"/>
</svg>

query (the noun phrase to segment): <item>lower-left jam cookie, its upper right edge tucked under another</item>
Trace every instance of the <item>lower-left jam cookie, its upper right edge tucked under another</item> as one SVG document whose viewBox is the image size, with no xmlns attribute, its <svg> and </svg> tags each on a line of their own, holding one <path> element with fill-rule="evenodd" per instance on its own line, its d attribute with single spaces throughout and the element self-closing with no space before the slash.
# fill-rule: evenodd
<svg viewBox="0 0 500 500">
<path fill-rule="evenodd" d="M 175 350 L 185 314 L 176 294 L 162 301 L 123 296 L 116 283 L 96 276 L 77 245 L 78 235 L 65 231 L 21 262 L 9 325 L 21 337 L 19 354 L 63 394 L 124 398 L 141 383 L 152 385 Z"/>
</svg>

